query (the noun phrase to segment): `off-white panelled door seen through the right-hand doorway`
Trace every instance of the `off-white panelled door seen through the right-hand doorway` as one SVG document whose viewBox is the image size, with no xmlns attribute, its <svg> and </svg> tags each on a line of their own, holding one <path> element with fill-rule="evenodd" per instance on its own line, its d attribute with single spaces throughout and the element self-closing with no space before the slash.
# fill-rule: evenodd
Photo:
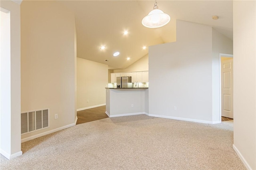
<svg viewBox="0 0 256 170">
<path fill-rule="evenodd" d="M 221 115 L 233 119 L 233 58 L 221 61 Z"/>
</svg>

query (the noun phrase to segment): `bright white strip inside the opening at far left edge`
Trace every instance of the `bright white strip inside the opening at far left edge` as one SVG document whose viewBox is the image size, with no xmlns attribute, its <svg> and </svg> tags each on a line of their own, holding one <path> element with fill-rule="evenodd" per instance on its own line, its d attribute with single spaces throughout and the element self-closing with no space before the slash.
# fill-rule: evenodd
<svg viewBox="0 0 256 170">
<path fill-rule="evenodd" d="M 2 10 L 2 8 L 1 8 Z M 10 103 L 10 56 L 11 56 L 11 40 L 10 40 L 10 11 L 0 11 L 1 17 L 1 58 L 0 58 L 0 148 L 4 152 L 11 152 L 10 145 L 10 119 L 11 119 L 11 103 Z M 2 121 L 1 121 L 2 118 Z M 6 130 L 4 130 L 8 127 Z M 7 139 L 7 140 L 6 140 Z"/>
</svg>

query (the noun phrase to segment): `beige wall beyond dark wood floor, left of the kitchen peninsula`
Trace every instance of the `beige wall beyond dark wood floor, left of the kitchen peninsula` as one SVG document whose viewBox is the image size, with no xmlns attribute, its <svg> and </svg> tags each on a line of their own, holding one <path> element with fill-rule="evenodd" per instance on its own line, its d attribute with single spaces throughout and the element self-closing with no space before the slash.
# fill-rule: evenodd
<svg viewBox="0 0 256 170">
<path fill-rule="evenodd" d="M 77 109 L 106 104 L 107 85 L 108 65 L 77 58 Z"/>
</svg>

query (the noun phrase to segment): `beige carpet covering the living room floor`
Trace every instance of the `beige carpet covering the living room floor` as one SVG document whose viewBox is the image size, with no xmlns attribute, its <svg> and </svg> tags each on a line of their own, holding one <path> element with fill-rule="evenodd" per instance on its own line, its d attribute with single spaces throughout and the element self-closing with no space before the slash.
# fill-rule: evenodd
<svg viewBox="0 0 256 170">
<path fill-rule="evenodd" d="M 0 169 L 245 170 L 232 144 L 232 121 L 106 118 L 24 142 L 22 156 L 0 156 Z"/>
</svg>

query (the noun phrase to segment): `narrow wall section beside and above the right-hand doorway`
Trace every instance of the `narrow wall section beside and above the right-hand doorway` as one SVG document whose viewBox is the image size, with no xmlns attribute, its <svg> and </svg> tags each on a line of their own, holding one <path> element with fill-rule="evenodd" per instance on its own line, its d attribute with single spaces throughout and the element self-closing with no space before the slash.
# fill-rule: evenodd
<svg viewBox="0 0 256 170">
<path fill-rule="evenodd" d="M 220 123 L 220 53 L 233 54 L 233 41 L 212 29 L 212 121 Z"/>
</svg>

